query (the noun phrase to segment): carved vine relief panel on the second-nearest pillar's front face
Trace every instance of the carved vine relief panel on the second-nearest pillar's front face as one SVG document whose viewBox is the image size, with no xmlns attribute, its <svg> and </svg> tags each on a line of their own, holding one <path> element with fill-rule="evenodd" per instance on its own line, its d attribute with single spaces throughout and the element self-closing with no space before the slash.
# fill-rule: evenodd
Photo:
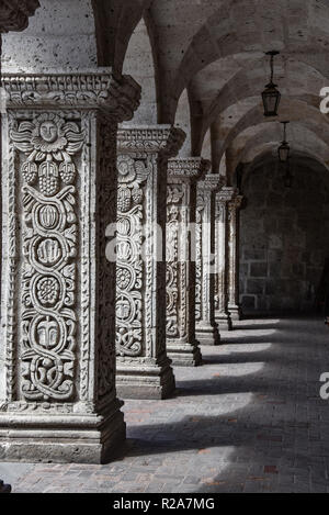
<svg viewBox="0 0 329 515">
<path fill-rule="evenodd" d="M 141 224 L 147 170 L 141 160 L 122 155 L 117 171 L 116 352 L 137 357 L 143 352 Z"/>
</svg>

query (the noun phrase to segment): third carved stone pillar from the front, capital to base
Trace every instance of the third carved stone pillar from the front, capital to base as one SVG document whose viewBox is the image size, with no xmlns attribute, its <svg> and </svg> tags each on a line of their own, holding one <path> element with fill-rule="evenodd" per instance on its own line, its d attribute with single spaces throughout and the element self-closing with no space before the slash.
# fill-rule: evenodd
<svg viewBox="0 0 329 515">
<path fill-rule="evenodd" d="M 167 351 L 173 365 L 198 366 L 195 338 L 195 256 L 193 256 L 196 180 L 208 163 L 171 159 L 167 188 Z"/>
</svg>

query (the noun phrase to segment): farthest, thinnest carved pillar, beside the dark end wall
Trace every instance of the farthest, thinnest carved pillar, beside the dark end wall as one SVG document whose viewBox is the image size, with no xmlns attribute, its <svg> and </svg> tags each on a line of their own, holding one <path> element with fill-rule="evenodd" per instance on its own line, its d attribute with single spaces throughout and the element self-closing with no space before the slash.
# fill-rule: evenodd
<svg viewBox="0 0 329 515">
<path fill-rule="evenodd" d="M 228 203 L 229 266 L 228 266 L 228 312 L 232 321 L 241 320 L 239 304 L 239 210 L 243 197 L 236 195 Z"/>
</svg>

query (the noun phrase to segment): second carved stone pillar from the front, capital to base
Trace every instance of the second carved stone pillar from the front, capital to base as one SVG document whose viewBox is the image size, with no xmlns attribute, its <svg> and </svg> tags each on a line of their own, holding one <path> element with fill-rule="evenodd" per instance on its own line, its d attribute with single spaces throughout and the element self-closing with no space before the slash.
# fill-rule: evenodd
<svg viewBox="0 0 329 515">
<path fill-rule="evenodd" d="M 168 159 L 184 133 L 170 125 L 118 131 L 116 291 L 117 391 L 164 399 L 174 390 L 166 352 Z"/>
</svg>

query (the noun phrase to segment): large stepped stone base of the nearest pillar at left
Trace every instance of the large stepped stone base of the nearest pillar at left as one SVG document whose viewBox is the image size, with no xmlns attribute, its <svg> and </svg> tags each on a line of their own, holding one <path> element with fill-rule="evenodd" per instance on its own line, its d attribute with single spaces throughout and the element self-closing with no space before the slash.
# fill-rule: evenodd
<svg viewBox="0 0 329 515">
<path fill-rule="evenodd" d="M 107 415 L 1 413 L 0 461 L 107 463 L 126 438 L 121 406 Z"/>
</svg>

